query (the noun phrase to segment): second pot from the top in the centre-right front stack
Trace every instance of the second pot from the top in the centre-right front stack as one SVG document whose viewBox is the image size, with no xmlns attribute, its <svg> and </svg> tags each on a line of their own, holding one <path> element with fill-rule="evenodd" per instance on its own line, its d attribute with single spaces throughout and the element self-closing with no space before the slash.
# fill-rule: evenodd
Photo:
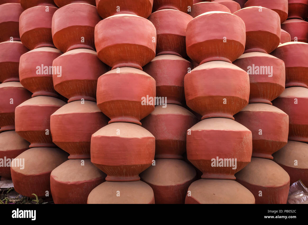
<svg viewBox="0 0 308 225">
<path fill-rule="evenodd" d="M 202 115 L 201 119 L 234 119 L 248 104 L 249 76 L 231 63 L 207 62 L 185 75 L 184 89 L 187 106 Z"/>
</svg>

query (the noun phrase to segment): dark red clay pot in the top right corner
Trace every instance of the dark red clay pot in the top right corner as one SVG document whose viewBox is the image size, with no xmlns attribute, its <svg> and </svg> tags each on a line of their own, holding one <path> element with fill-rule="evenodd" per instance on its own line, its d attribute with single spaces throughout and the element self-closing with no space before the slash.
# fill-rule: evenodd
<svg viewBox="0 0 308 225">
<path fill-rule="evenodd" d="M 288 19 L 306 19 L 308 0 L 288 0 Z"/>
</svg>

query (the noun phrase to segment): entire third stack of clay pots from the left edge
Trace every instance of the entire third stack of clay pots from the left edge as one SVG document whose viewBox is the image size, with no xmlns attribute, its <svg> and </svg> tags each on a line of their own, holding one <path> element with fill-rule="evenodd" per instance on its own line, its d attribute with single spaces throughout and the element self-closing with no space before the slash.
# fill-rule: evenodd
<svg viewBox="0 0 308 225">
<path fill-rule="evenodd" d="M 51 81 L 68 103 L 50 116 L 50 127 L 53 142 L 69 153 L 69 160 L 52 171 L 51 193 L 56 204 L 85 204 L 106 177 L 91 163 L 90 143 L 109 121 L 96 105 L 96 89 L 99 76 L 110 68 L 95 52 L 94 27 L 101 20 L 95 1 L 55 3 L 60 9 L 52 18 L 52 38 L 63 54 L 51 62 L 57 69 Z"/>
</svg>

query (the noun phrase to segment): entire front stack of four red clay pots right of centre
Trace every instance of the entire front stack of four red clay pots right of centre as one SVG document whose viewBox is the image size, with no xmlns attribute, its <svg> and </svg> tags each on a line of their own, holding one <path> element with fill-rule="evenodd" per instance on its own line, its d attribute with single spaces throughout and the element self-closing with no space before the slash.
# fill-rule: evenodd
<svg viewBox="0 0 308 225">
<path fill-rule="evenodd" d="M 207 32 L 199 32 L 200 27 Z M 245 24 L 238 16 L 210 11 L 188 23 L 187 54 L 200 65 L 185 75 L 184 92 L 187 106 L 202 120 L 187 130 L 186 150 L 187 159 L 203 174 L 188 187 L 185 203 L 213 203 L 210 195 L 223 199 L 215 203 L 255 202 L 245 187 L 228 181 L 252 154 L 251 131 L 233 118 L 249 102 L 249 76 L 231 63 L 244 49 Z M 229 191 L 219 187 L 227 183 Z M 239 199 L 235 190 L 245 198 Z"/>
</svg>

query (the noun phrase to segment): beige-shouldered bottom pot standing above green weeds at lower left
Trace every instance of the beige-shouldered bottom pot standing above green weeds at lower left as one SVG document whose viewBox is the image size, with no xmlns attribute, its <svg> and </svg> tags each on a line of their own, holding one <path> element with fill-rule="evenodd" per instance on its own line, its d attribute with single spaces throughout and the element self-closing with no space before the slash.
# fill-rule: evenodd
<svg viewBox="0 0 308 225">
<path fill-rule="evenodd" d="M 30 148 L 15 159 L 19 161 L 11 166 L 14 189 L 18 194 L 34 198 L 46 198 L 51 195 L 51 171 L 67 160 L 68 154 L 59 148 Z M 20 163 L 22 162 L 22 163 Z"/>
</svg>

